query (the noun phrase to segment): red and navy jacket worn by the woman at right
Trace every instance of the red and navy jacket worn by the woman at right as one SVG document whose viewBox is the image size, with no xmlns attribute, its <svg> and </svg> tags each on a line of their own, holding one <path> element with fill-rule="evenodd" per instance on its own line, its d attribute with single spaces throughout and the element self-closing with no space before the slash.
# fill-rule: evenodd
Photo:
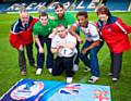
<svg viewBox="0 0 131 101">
<path fill-rule="evenodd" d="M 106 25 L 103 25 L 102 21 L 98 21 L 97 25 L 111 52 L 120 53 L 130 49 L 128 34 L 131 33 L 131 26 L 115 16 L 109 16 Z"/>
</svg>

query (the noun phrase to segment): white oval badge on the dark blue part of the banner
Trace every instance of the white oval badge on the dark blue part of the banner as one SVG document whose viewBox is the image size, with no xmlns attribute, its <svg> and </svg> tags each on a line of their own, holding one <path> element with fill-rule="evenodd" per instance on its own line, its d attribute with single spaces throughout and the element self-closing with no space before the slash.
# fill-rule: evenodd
<svg viewBox="0 0 131 101">
<path fill-rule="evenodd" d="M 43 81 L 28 81 L 16 87 L 10 94 L 14 100 L 26 100 L 44 89 Z"/>
</svg>

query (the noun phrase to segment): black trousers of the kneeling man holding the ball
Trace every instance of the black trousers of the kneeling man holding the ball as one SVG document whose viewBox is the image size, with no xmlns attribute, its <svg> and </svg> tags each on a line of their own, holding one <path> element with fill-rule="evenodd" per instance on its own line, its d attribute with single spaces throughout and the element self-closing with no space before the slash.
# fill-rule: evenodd
<svg viewBox="0 0 131 101">
<path fill-rule="evenodd" d="M 52 75 L 58 76 L 66 71 L 66 76 L 67 77 L 72 77 L 73 76 L 73 56 L 71 58 L 60 58 L 57 56 L 53 60 L 53 66 L 52 66 Z"/>
</svg>

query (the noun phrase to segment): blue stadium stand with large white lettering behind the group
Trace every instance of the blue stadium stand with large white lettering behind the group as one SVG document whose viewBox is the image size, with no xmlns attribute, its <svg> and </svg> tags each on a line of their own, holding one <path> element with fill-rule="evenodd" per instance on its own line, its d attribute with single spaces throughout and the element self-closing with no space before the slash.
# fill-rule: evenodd
<svg viewBox="0 0 131 101">
<path fill-rule="evenodd" d="M 20 8 L 25 7 L 28 11 L 38 11 L 44 9 L 52 11 L 57 2 L 62 2 L 69 11 L 95 11 L 100 5 L 100 0 L 13 0 L 13 2 L 1 2 L 0 12 L 14 12 Z M 107 0 L 106 7 L 111 11 L 130 11 L 131 0 Z"/>
</svg>

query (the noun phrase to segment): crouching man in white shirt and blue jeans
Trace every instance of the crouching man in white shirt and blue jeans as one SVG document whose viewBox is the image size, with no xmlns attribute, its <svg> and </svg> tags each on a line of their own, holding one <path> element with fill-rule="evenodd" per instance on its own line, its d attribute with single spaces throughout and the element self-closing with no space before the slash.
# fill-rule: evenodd
<svg viewBox="0 0 131 101">
<path fill-rule="evenodd" d="M 84 34 L 86 40 L 82 47 L 80 59 L 86 65 L 86 71 L 91 71 L 92 73 L 88 83 L 95 83 L 99 79 L 97 53 L 103 46 L 103 41 L 100 40 L 96 26 L 88 22 L 87 12 L 79 12 L 76 18 L 78 22 L 72 25 L 70 33 L 74 35 L 76 39 L 81 39 L 81 37 L 75 34 L 76 28 L 81 29 Z M 90 55 L 90 58 L 87 55 Z"/>
</svg>

